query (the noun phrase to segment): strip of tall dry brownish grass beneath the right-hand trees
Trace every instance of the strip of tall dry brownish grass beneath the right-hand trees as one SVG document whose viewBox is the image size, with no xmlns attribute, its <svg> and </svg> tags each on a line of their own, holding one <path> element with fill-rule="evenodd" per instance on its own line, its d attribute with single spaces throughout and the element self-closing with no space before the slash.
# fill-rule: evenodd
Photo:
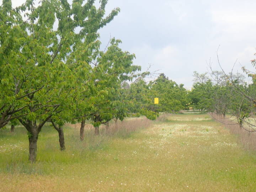
<svg viewBox="0 0 256 192">
<path fill-rule="evenodd" d="M 244 129 L 243 127 L 240 127 L 235 117 L 223 117 L 222 115 L 218 115 L 215 113 L 211 113 L 210 115 L 216 121 L 223 123 L 224 126 L 229 129 L 231 134 L 237 135 L 238 142 L 241 143 L 246 150 L 256 153 L 256 132 L 249 132 L 246 130 L 247 128 Z"/>
</svg>

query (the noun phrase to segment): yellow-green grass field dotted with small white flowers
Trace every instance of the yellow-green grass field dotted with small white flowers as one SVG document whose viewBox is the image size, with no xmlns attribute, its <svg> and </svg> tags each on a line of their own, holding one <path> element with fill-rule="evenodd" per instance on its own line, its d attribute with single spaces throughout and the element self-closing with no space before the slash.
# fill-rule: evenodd
<svg viewBox="0 0 256 192">
<path fill-rule="evenodd" d="M 172 114 L 144 127 L 110 138 L 87 130 L 84 142 L 65 127 L 61 152 L 48 126 L 35 164 L 25 128 L 1 130 L 0 191 L 256 191 L 256 156 L 207 114 Z"/>
</svg>

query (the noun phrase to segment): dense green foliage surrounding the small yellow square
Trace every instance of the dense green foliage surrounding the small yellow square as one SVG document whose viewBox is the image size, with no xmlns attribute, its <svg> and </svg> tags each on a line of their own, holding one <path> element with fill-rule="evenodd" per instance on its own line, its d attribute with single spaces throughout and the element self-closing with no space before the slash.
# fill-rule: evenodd
<svg viewBox="0 0 256 192">
<path fill-rule="evenodd" d="M 130 101 L 130 113 L 142 114 L 151 120 L 159 116 L 159 112 L 178 112 L 188 103 L 187 90 L 181 84 L 169 80 L 164 74 L 149 83 L 145 76 L 130 85 L 126 100 Z M 159 104 L 154 104 L 154 98 L 159 98 Z"/>
</svg>

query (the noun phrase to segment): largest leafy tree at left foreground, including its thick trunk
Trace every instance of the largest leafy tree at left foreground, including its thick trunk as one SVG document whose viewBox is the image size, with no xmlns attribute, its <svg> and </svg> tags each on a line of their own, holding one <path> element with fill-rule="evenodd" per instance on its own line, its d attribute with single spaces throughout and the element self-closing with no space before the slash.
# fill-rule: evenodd
<svg viewBox="0 0 256 192">
<path fill-rule="evenodd" d="M 49 120 L 62 125 L 70 119 L 62 112 L 76 108 L 80 83 L 86 82 L 90 71 L 88 58 L 93 57 L 97 30 L 119 12 L 115 9 L 103 18 L 106 3 L 101 1 L 96 9 L 93 0 L 71 5 L 65 0 L 43 0 L 34 7 L 28 0 L 12 9 L 11 1 L 3 1 L 0 126 L 16 118 L 26 127 L 32 162 L 43 125 Z"/>
</svg>

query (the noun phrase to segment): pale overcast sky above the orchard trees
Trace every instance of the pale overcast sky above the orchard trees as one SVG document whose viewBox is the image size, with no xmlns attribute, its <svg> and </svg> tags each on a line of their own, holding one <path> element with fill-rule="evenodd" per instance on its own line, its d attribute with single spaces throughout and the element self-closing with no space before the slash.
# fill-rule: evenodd
<svg viewBox="0 0 256 192">
<path fill-rule="evenodd" d="M 12 2 L 15 6 L 22 1 Z M 121 47 L 135 53 L 134 64 L 143 70 L 152 64 L 151 71 L 160 69 L 159 73 L 191 88 L 193 71 L 206 72 L 209 60 L 214 70 L 220 70 L 218 47 L 225 71 L 236 60 L 236 71 L 241 65 L 253 70 L 255 0 L 108 0 L 106 14 L 115 7 L 121 12 L 100 30 L 102 45 L 110 34 L 121 39 Z"/>
</svg>

